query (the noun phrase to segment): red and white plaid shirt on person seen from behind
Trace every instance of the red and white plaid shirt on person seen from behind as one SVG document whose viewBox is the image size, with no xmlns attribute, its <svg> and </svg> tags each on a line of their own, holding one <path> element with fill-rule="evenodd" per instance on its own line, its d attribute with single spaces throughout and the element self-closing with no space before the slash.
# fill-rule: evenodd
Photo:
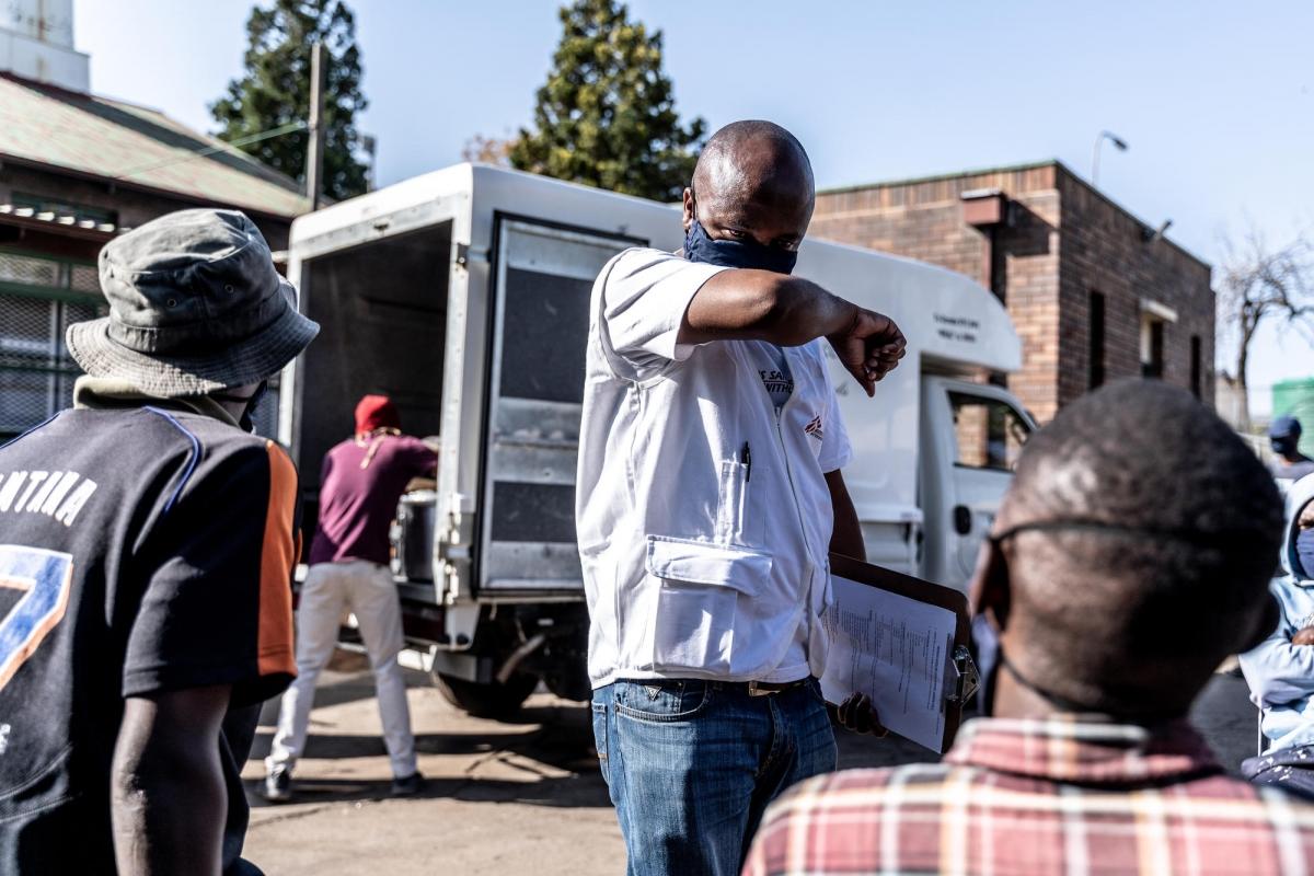
<svg viewBox="0 0 1314 876">
<path fill-rule="evenodd" d="M 940 764 L 848 770 L 775 802 L 744 876 L 1307 873 L 1314 806 L 1159 732 L 978 718 Z"/>
</svg>

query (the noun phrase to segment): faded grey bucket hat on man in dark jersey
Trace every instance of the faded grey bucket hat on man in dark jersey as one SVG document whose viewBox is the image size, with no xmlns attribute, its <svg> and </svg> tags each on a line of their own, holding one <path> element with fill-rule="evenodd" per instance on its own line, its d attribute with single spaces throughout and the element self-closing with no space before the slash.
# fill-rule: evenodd
<svg viewBox="0 0 1314 876">
<path fill-rule="evenodd" d="M 259 383 L 319 334 L 237 210 L 179 210 L 110 240 L 100 286 L 109 317 L 70 326 L 68 352 L 163 398 Z"/>
</svg>

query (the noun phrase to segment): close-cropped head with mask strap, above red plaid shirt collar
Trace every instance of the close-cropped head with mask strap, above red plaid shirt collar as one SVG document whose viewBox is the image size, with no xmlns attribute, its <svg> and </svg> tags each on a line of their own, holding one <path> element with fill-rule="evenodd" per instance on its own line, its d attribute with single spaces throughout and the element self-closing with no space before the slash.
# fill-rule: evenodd
<svg viewBox="0 0 1314 876">
<path fill-rule="evenodd" d="M 1063 697 L 1185 712 L 1272 620 L 1282 508 L 1246 444 L 1188 393 L 1114 383 L 1026 447 L 980 603 L 1010 659 Z"/>
</svg>

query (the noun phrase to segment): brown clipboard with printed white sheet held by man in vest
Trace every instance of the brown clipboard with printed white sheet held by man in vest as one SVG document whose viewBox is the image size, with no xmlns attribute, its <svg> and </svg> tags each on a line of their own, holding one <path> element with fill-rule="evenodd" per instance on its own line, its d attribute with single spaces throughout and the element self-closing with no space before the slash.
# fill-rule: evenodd
<svg viewBox="0 0 1314 876">
<path fill-rule="evenodd" d="M 834 692 L 840 690 L 837 684 L 850 687 L 851 682 L 855 687 L 850 692 L 854 692 L 862 690 L 859 682 L 876 684 L 880 676 L 884 683 L 863 692 L 871 696 L 882 724 L 933 751 L 949 750 L 962 725 L 963 707 L 980 684 L 968 649 L 971 609 L 967 596 L 950 587 L 841 554 L 830 554 L 830 575 L 837 596 L 823 619 L 832 630 L 832 653 L 827 659 L 823 690 L 829 683 Z M 851 588 L 853 583 L 882 591 L 879 596 L 872 595 L 870 605 L 863 605 L 869 608 L 867 617 L 844 605 L 844 592 L 850 598 L 861 596 Z M 943 612 L 950 612 L 953 617 Z M 941 634 L 943 642 L 938 641 Z M 861 650 L 869 645 L 875 647 Z M 942 663 L 938 659 L 941 655 Z M 936 661 L 934 667 L 932 659 Z M 896 670 L 901 675 L 895 682 L 892 672 Z M 937 671 L 938 684 L 934 683 Z M 836 699 L 844 696 L 848 693 Z M 932 697 L 934 705 L 930 704 Z M 900 726 L 904 733 L 900 733 Z M 908 728 L 916 732 L 909 733 Z M 936 733 L 932 733 L 933 729 Z"/>
</svg>

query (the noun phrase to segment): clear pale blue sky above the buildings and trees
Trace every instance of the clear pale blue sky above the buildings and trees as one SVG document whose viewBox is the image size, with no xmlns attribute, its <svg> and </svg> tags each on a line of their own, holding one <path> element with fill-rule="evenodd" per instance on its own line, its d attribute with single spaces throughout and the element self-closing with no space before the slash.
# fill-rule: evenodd
<svg viewBox="0 0 1314 876">
<path fill-rule="evenodd" d="M 248 0 L 75 0 L 92 88 L 209 127 L 240 71 Z M 355 0 L 381 184 L 530 121 L 558 37 L 552 0 Z M 824 186 L 1058 158 L 1214 261 L 1254 222 L 1314 234 L 1314 4 L 631 0 L 665 34 L 678 110 L 790 127 Z M 1219 330 L 1223 327 L 1219 326 Z M 1221 343 L 1226 364 L 1226 345 Z M 1256 341 L 1267 387 L 1314 376 L 1294 332 Z"/>
</svg>

